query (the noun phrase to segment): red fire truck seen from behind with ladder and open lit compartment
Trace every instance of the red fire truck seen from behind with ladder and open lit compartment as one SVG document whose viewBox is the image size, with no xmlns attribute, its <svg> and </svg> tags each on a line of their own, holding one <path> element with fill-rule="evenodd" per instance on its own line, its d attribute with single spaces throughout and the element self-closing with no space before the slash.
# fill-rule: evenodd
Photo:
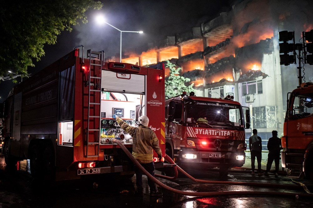
<svg viewBox="0 0 313 208">
<path fill-rule="evenodd" d="M 104 62 L 104 53 L 83 46 L 16 85 L 1 104 L 7 165 L 30 159 L 34 177 L 76 179 L 90 174 L 133 175 L 119 139 L 132 151 L 132 138 L 113 114 L 136 126 L 146 115 L 165 155 L 164 65 L 150 68 Z M 157 113 L 156 113 L 157 112 Z M 163 162 L 156 158 L 156 168 Z"/>
</svg>

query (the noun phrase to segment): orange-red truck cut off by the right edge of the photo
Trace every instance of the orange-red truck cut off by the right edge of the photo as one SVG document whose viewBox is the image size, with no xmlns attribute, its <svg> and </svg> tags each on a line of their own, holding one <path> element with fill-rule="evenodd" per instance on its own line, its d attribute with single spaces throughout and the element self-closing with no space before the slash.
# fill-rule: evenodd
<svg viewBox="0 0 313 208">
<path fill-rule="evenodd" d="M 281 164 L 289 175 L 313 180 L 313 83 L 302 83 L 287 96 Z"/>
</svg>

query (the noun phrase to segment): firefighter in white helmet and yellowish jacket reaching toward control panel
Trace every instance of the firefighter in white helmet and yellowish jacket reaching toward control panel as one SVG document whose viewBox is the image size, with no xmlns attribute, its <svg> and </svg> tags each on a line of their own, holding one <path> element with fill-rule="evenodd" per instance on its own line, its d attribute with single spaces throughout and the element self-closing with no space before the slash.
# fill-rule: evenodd
<svg viewBox="0 0 313 208">
<path fill-rule="evenodd" d="M 162 159 L 162 152 L 159 146 L 159 140 L 153 130 L 148 127 L 149 118 L 145 115 L 138 118 L 139 126 L 134 127 L 126 124 L 120 117 L 113 115 L 117 123 L 124 131 L 129 133 L 133 139 L 132 156 L 154 176 L 153 150 L 158 154 L 159 160 Z M 137 196 L 143 196 L 142 189 L 142 171 L 135 166 Z M 150 187 L 150 196 L 161 196 L 162 194 L 156 191 L 156 186 L 153 181 L 148 178 Z"/>
</svg>

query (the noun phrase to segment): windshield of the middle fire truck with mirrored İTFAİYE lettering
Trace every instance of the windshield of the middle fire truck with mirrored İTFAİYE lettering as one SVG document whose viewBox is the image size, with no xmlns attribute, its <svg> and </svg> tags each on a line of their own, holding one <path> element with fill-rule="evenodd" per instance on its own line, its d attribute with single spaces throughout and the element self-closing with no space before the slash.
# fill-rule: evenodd
<svg viewBox="0 0 313 208">
<path fill-rule="evenodd" d="M 189 102 L 186 104 L 185 122 L 198 125 L 230 126 L 239 128 L 243 125 L 239 105 L 216 102 Z"/>
</svg>

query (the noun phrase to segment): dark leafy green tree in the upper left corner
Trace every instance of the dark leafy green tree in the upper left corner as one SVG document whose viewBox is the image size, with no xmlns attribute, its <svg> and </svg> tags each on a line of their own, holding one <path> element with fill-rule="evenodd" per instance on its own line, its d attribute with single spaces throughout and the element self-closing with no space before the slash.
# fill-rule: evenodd
<svg viewBox="0 0 313 208">
<path fill-rule="evenodd" d="M 33 60 L 44 56 L 45 44 L 55 44 L 64 29 L 86 23 L 88 9 L 102 7 L 93 0 L 0 0 L 0 5 L 0 77 L 9 70 L 27 76 Z"/>
</svg>

